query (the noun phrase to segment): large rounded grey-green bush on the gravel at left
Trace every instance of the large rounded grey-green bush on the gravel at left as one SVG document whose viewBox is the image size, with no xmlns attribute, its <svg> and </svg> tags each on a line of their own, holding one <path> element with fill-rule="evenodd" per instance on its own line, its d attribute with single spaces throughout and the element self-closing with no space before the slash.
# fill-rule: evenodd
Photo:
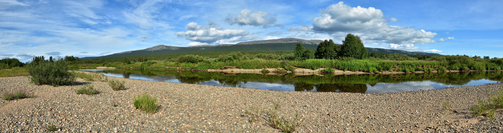
<svg viewBox="0 0 503 133">
<path fill-rule="evenodd" d="M 75 81 L 75 78 L 68 72 L 68 65 L 65 61 L 49 62 L 43 60 L 43 57 L 38 62 L 35 62 L 35 58 L 33 60 L 27 67 L 33 83 L 60 86 L 70 85 Z"/>
</svg>

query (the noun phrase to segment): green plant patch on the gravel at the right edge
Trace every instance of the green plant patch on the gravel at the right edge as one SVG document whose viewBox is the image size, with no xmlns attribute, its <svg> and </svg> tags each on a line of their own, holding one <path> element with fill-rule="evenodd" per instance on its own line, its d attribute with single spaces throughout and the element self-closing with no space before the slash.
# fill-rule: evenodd
<svg viewBox="0 0 503 133">
<path fill-rule="evenodd" d="M 482 115 L 493 119 L 494 111 L 499 108 L 503 108 L 503 89 L 489 95 L 487 101 L 479 98 L 477 104 L 471 107 L 471 111 L 474 115 Z"/>
</svg>

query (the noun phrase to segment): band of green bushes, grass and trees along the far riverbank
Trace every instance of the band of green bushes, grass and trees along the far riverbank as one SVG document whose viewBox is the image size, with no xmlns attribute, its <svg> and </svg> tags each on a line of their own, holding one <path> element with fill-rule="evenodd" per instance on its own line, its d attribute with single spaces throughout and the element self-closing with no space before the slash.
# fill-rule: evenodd
<svg viewBox="0 0 503 133">
<path fill-rule="evenodd" d="M 41 58 L 44 59 L 43 56 Z M 206 70 L 234 66 L 241 69 L 283 68 L 287 71 L 294 71 L 294 67 L 312 70 L 333 68 L 372 73 L 382 71 L 482 71 L 502 70 L 503 68 L 503 59 L 488 56 L 369 53 L 363 46 L 360 37 L 352 34 L 346 36 L 342 45 L 337 45 L 332 40 L 325 40 L 315 49 L 297 44 L 293 51 L 203 52 L 96 59 L 65 56 L 60 59 L 50 57 L 48 60 L 50 62 L 53 60 L 65 61 L 72 69 L 103 66 L 127 69 Z M 21 63 L 17 59 L 0 60 L 0 68 L 2 69 L 23 67 L 24 65 L 25 63 Z"/>
</svg>

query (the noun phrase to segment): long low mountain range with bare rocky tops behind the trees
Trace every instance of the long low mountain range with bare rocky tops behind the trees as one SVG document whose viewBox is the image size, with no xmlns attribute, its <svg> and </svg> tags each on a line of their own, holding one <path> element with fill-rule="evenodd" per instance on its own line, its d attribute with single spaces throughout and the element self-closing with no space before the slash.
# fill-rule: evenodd
<svg viewBox="0 0 503 133">
<path fill-rule="evenodd" d="M 303 40 L 297 38 L 283 38 L 283 39 L 272 39 L 272 40 L 260 40 L 260 41 L 248 41 L 240 42 L 237 44 L 222 44 L 222 45 L 200 45 L 192 47 L 176 47 L 176 46 L 166 46 L 157 45 L 154 47 L 125 51 L 105 56 L 99 57 L 83 57 L 81 59 L 100 59 L 100 58 L 123 58 L 123 57 L 136 57 L 136 56 L 149 56 L 149 55 L 168 55 L 168 54 L 196 54 L 196 53 L 211 53 L 211 52 L 239 52 L 239 51 L 293 51 L 297 43 L 300 43 L 306 49 L 316 50 L 318 44 L 323 42 L 322 40 Z M 340 44 L 336 44 L 340 47 Z M 391 50 L 382 48 L 367 48 L 369 53 L 381 53 L 381 54 L 406 54 L 406 55 L 428 55 L 435 56 L 440 55 L 437 53 L 426 53 L 426 52 L 409 52 L 403 50 Z"/>
</svg>

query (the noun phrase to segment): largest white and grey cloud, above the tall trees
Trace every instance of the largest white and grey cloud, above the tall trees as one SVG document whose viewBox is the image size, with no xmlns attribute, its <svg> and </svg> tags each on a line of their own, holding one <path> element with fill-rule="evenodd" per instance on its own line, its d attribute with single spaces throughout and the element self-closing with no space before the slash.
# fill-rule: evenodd
<svg viewBox="0 0 503 133">
<path fill-rule="evenodd" d="M 437 33 L 425 30 L 390 26 L 388 21 L 384 19 L 383 12 L 373 7 L 350 7 L 339 2 L 320 12 L 321 15 L 312 21 L 314 32 L 328 33 L 334 36 L 353 33 L 369 43 L 434 43 L 432 38 L 437 35 Z"/>
</svg>

